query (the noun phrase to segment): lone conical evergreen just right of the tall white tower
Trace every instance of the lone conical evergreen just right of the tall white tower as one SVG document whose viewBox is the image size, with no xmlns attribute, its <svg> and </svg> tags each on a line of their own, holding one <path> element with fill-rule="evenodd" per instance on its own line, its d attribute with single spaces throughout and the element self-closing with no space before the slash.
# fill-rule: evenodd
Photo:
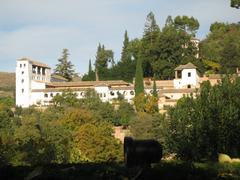
<svg viewBox="0 0 240 180">
<path fill-rule="evenodd" d="M 54 70 L 54 73 L 66 78 L 68 81 L 71 81 L 75 71 L 73 69 L 73 64 L 68 60 L 69 52 L 68 49 L 63 49 L 62 57 L 58 59 L 58 64 Z"/>
</svg>

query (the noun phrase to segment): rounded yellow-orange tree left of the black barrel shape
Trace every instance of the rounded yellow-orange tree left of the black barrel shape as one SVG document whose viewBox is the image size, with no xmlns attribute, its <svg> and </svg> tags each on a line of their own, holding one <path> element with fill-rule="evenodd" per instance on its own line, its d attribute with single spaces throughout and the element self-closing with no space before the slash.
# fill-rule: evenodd
<svg viewBox="0 0 240 180">
<path fill-rule="evenodd" d="M 112 136 L 109 124 L 85 123 L 74 134 L 74 143 L 89 162 L 111 162 L 120 160 L 121 145 Z"/>
</svg>

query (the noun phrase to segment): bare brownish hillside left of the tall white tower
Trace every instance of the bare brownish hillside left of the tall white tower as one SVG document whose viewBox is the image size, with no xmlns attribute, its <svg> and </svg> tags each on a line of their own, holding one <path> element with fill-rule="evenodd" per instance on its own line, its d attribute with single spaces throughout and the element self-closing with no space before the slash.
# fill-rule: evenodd
<svg viewBox="0 0 240 180">
<path fill-rule="evenodd" d="M 0 72 L 0 96 L 14 96 L 15 73 Z"/>
</svg>

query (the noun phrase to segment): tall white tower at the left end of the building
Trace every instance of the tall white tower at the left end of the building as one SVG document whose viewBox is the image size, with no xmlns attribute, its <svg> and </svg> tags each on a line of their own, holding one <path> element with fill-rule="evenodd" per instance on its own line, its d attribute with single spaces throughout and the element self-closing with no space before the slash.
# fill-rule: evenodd
<svg viewBox="0 0 240 180">
<path fill-rule="evenodd" d="M 16 105 L 29 107 L 32 105 L 31 92 L 35 82 L 50 82 L 51 69 L 48 65 L 22 58 L 17 61 L 16 67 Z"/>
</svg>

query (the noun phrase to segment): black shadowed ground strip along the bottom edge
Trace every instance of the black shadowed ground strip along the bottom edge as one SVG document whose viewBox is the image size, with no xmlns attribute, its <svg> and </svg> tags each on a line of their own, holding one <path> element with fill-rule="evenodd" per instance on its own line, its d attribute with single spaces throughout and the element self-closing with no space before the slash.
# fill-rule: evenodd
<svg viewBox="0 0 240 180">
<path fill-rule="evenodd" d="M 139 168 L 129 171 L 123 163 L 83 163 L 0 167 L 1 180 L 89 180 L 133 179 Z M 28 179 L 28 180 L 29 180 Z M 144 168 L 137 180 L 239 180 L 240 164 L 193 163 L 161 161 L 152 168 Z"/>
</svg>

